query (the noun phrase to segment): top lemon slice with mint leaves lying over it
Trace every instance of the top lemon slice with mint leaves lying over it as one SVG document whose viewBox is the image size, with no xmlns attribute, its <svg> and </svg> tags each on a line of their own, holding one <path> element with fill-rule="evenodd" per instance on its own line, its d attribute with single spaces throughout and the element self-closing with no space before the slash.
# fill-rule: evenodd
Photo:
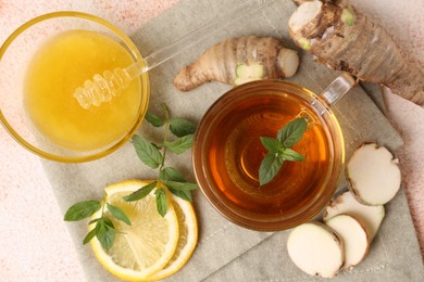
<svg viewBox="0 0 424 282">
<path fill-rule="evenodd" d="M 136 202 L 125 202 L 123 196 L 148 184 L 149 181 L 127 180 L 104 189 L 108 203 L 124 210 L 132 226 L 110 218 L 116 229 L 115 241 L 105 252 L 97 238 L 91 240 L 92 249 L 99 261 L 112 274 L 124 280 L 146 280 L 163 269 L 173 257 L 178 243 L 178 220 L 172 204 L 161 217 L 157 210 L 153 190 Z M 171 198 L 171 197 L 169 197 Z M 108 215 L 108 210 L 104 214 Z M 101 216 L 97 211 L 92 218 Z M 90 226 L 90 229 L 95 225 Z"/>
</svg>

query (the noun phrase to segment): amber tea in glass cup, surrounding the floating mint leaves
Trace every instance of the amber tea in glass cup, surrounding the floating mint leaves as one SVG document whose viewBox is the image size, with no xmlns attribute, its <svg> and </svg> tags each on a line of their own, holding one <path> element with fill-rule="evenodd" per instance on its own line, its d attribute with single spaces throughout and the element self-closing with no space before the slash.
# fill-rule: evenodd
<svg viewBox="0 0 424 282">
<path fill-rule="evenodd" d="M 329 201 L 344 158 L 342 137 L 328 112 L 311 106 L 314 94 L 271 80 L 237 87 L 211 106 L 195 140 L 194 167 L 200 188 L 229 220 L 255 230 L 290 228 L 316 215 Z M 276 177 L 259 183 L 267 150 L 260 137 L 299 116 L 309 129 L 292 148 L 303 162 L 286 161 Z"/>
</svg>

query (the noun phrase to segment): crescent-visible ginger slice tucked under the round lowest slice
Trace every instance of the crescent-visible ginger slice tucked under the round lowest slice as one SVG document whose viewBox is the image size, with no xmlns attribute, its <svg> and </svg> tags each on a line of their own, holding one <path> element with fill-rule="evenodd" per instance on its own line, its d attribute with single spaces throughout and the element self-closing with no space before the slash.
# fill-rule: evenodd
<svg viewBox="0 0 424 282">
<path fill-rule="evenodd" d="M 344 242 L 344 269 L 352 269 L 365 258 L 370 249 L 370 236 L 365 225 L 349 215 L 338 215 L 326 225 L 336 231 Z"/>
</svg>

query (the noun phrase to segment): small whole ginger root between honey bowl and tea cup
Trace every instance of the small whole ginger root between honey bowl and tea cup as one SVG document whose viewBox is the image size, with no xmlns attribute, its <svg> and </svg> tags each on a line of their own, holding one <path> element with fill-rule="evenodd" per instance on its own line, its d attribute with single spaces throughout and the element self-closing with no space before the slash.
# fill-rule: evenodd
<svg viewBox="0 0 424 282">
<path fill-rule="evenodd" d="M 180 91 L 216 80 L 228 85 L 292 76 L 299 66 L 296 51 L 273 37 L 228 38 L 211 47 L 179 70 L 174 86 Z"/>
</svg>

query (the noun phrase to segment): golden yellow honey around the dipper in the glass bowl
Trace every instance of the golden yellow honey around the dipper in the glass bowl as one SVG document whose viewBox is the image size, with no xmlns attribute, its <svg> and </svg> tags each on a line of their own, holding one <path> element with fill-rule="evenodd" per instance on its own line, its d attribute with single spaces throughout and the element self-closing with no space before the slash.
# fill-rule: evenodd
<svg viewBox="0 0 424 282">
<path fill-rule="evenodd" d="M 70 150 L 97 150 L 122 139 L 139 116 L 140 79 L 88 110 L 73 93 L 95 74 L 133 62 L 122 44 L 100 33 L 75 29 L 53 36 L 28 65 L 24 104 L 29 119 L 45 138 Z"/>
</svg>

